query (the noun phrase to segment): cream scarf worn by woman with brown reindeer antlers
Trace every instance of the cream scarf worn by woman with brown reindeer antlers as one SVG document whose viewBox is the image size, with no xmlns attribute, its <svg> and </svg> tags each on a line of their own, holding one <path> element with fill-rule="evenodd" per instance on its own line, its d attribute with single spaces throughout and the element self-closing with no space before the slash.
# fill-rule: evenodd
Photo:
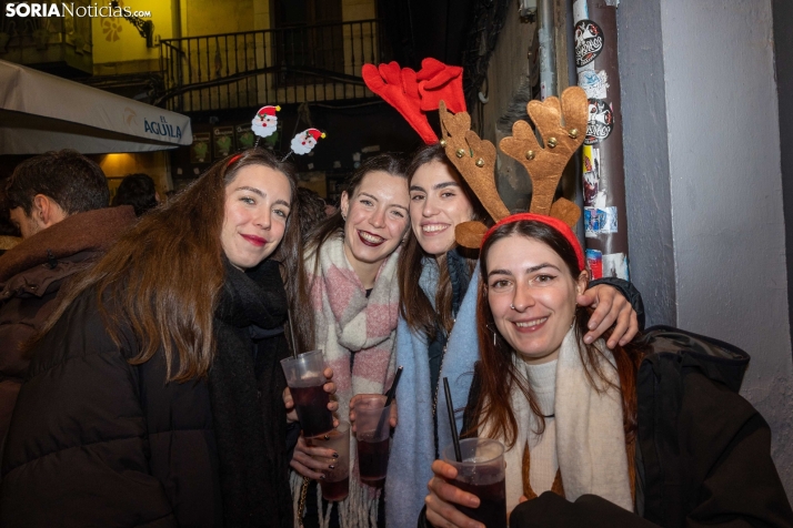
<svg viewBox="0 0 793 528">
<path fill-rule="evenodd" d="M 583 343 L 581 346 L 584 346 Z M 620 378 L 611 352 L 602 341 L 596 342 L 596 346 L 605 355 L 605 358 L 600 359 L 603 374 L 619 387 Z M 519 372 L 524 370 L 520 368 Z M 575 329 L 571 328 L 559 353 L 553 409 L 556 457 L 564 496 L 574 501 L 582 495 L 599 495 L 633 511 L 622 423 L 622 396 L 618 388 L 606 389 L 602 380 L 598 377 L 594 379 L 604 390 L 595 390 L 586 378 Z M 529 403 L 516 387 L 512 393 L 512 405 L 520 430 L 514 447 L 504 454 L 508 511 L 512 511 L 523 495 L 523 446 L 535 427 Z M 503 438 L 499 439 L 503 441 Z"/>
</svg>

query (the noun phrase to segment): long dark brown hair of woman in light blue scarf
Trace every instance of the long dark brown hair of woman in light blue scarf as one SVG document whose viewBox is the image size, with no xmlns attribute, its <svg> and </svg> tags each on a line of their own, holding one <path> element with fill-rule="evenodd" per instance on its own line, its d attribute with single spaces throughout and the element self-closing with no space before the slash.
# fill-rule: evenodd
<svg viewBox="0 0 793 528">
<path fill-rule="evenodd" d="M 460 185 L 463 193 L 465 193 L 469 202 L 473 205 L 474 214 L 471 220 L 479 220 L 481 222 L 489 220 L 484 207 L 482 207 L 479 200 L 476 200 L 473 192 L 471 192 L 471 189 L 463 181 L 454 165 L 449 162 L 446 153 L 440 143 L 422 146 L 413 154 L 413 159 L 410 165 L 408 165 L 408 184 L 410 185 L 419 169 L 432 162 L 440 162 L 449 167 L 449 172 Z M 473 268 L 476 266 L 475 252 L 472 254 L 466 251 L 466 254 L 463 256 L 468 261 L 469 273 L 473 272 Z M 438 290 L 435 291 L 435 309 L 433 309 L 432 303 L 424 294 L 418 281 L 421 276 L 423 261 L 426 257 L 432 257 L 432 255 L 428 255 L 424 250 L 421 248 L 421 244 L 419 244 L 419 240 L 411 229 L 404 248 L 400 254 L 399 262 L 400 315 L 405 319 L 411 331 L 424 334 L 429 341 L 434 341 L 439 326 L 446 334 L 452 331 L 452 325 L 454 324 L 452 318 L 453 292 L 449 277 L 446 255 L 443 254 L 436 258 L 439 276 Z"/>
</svg>

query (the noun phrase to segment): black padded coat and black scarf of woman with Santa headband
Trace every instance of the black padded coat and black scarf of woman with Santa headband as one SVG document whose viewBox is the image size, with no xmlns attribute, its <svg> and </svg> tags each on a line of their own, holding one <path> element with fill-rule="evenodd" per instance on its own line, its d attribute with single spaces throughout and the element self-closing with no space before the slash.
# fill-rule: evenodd
<svg viewBox="0 0 793 528">
<path fill-rule="evenodd" d="M 291 528 L 285 306 L 277 263 L 227 266 L 209 378 L 167 384 L 164 356 L 130 365 L 134 336 L 113 344 L 83 293 L 19 394 L 0 525 Z"/>
</svg>

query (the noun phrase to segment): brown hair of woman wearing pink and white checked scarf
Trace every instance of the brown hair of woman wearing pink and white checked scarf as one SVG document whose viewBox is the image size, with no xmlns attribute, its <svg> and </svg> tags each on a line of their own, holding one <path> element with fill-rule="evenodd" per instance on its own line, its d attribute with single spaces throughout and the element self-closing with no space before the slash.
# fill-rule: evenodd
<svg viewBox="0 0 793 528">
<path fill-rule="evenodd" d="M 347 182 L 347 189 L 344 190 L 344 192 L 350 199 L 352 199 L 355 195 L 358 187 L 361 186 L 361 182 L 363 182 L 363 179 L 367 176 L 367 174 L 371 172 L 382 171 L 389 173 L 392 176 L 406 177 L 405 166 L 406 160 L 402 155 L 395 153 L 387 152 L 384 154 L 379 154 L 369 158 L 363 163 L 361 163 L 361 166 L 359 166 L 352 174 L 352 176 L 350 176 L 350 180 Z M 337 209 L 335 213 L 333 213 L 328 220 L 325 220 L 322 224 L 311 231 L 309 240 L 305 242 L 304 245 L 305 257 L 310 258 L 312 256 L 319 255 L 322 245 L 333 237 L 344 237 L 344 217 L 341 215 L 341 207 Z M 311 270 L 311 273 L 314 277 L 319 275 L 319 265 L 320 260 L 314 258 L 313 270 Z M 305 273 L 308 272 L 309 270 L 305 270 Z M 302 280 L 304 283 L 304 288 L 300 294 L 299 302 L 295 303 L 294 309 L 297 318 L 300 319 L 300 341 L 309 347 L 307 349 L 311 349 L 319 346 L 319 344 L 315 343 L 317 335 L 314 332 L 314 307 L 311 303 L 312 285 L 309 284 L 309 281 L 305 278 L 305 276 L 303 276 Z"/>
</svg>

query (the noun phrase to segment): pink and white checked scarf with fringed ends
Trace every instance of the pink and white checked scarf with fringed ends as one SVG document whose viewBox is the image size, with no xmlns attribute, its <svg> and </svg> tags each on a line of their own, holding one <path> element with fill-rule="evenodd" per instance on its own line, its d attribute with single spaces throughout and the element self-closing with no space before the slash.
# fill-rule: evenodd
<svg viewBox="0 0 793 528">
<path fill-rule="evenodd" d="M 394 343 L 399 317 L 399 250 L 381 265 L 369 297 L 344 254 L 342 233 L 319 250 L 319 275 L 313 275 L 317 253 L 309 255 L 305 270 L 315 312 L 315 344 L 325 364 L 333 369 L 339 417 L 348 419 L 350 399 L 357 394 L 383 394 L 394 372 Z M 352 369 L 350 359 L 354 354 Z M 355 440 L 350 441 L 350 496 L 339 502 L 343 528 L 377 527 L 380 491 L 361 485 L 358 477 Z M 297 504 L 302 477 L 292 473 L 292 495 Z M 318 504 L 320 488 L 318 490 Z M 329 510 L 330 511 L 330 510 Z M 328 514 L 320 519 L 328 524 Z M 297 519 L 295 519 L 295 526 Z"/>
</svg>

